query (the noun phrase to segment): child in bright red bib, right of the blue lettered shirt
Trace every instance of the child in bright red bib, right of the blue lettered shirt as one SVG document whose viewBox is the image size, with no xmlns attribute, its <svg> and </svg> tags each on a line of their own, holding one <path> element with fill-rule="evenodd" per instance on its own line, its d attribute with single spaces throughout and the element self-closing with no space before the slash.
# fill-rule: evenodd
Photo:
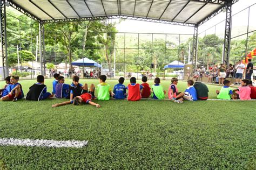
<svg viewBox="0 0 256 170">
<path fill-rule="evenodd" d="M 128 84 L 126 89 L 128 90 L 128 101 L 139 101 L 142 98 L 141 90 L 143 89 L 143 86 L 136 83 L 135 77 L 131 77 L 130 84 Z"/>
</svg>

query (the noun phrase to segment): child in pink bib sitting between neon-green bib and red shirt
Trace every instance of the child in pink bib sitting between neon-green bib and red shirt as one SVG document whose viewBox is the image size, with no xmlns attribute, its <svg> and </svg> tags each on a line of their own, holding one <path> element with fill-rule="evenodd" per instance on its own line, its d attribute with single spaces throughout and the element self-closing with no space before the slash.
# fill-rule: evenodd
<svg viewBox="0 0 256 170">
<path fill-rule="evenodd" d="M 249 80 L 244 79 L 241 81 L 241 86 L 238 89 L 233 90 L 235 99 L 251 100 L 251 88 L 248 87 Z"/>
</svg>

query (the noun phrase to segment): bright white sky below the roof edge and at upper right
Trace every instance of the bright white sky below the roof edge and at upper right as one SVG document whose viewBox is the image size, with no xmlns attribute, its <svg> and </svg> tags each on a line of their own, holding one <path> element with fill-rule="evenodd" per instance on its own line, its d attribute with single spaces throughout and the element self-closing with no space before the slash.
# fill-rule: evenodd
<svg viewBox="0 0 256 170">
<path fill-rule="evenodd" d="M 239 0 L 232 6 L 232 15 L 241 11 L 242 9 L 247 8 L 250 5 L 255 4 L 255 0 Z M 250 16 L 256 16 L 256 5 L 253 6 Z M 232 25 L 235 26 L 247 26 L 247 15 L 248 10 L 235 15 L 235 20 Z M 221 12 L 218 16 L 208 20 L 205 24 L 199 26 L 199 33 L 205 31 L 207 28 L 225 20 L 226 13 Z M 245 19 L 246 18 L 246 19 Z M 255 20 L 251 17 L 251 20 Z M 115 19 L 113 19 L 114 21 Z M 252 23 L 252 22 L 251 22 Z M 256 24 L 254 24 L 256 27 Z M 184 33 L 184 34 L 193 34 L 193 27 L 188 26 L 178 26 L 170 24 L 161 24 L 161 23 L 151 23 L 143 22 L 138 20 L 129 20 L 126 19 L 121 23 L 117 24 L 117 30 L 119 32 L 136 32 L 136 33 Z M 222 31 L 223 32 L 223 31 Z"/>
</svg>

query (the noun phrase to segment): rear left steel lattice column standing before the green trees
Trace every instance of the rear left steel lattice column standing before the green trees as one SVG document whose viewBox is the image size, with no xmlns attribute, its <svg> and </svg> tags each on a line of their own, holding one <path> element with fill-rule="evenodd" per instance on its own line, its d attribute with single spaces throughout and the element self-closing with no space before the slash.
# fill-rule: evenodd
<svg viewBox="0 0 256 170">
<path fill-rule="evenodd" d="M 39 55 L 41 59 L 41 74 L 45 76 L 45 49 L 44 49 L 44 24 L 39 23 Z"/>
</svg>

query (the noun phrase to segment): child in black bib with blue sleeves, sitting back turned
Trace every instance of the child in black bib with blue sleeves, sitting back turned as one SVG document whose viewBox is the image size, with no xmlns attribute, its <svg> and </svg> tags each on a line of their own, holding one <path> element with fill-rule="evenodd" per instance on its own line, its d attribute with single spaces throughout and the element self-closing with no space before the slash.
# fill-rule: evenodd
<svg viewBox="0 0 256 170">
<path fill-rule="evenodd" d="M 44 76 L 38 75 L 36 79 L 37 83 L 29 88 L 29 92 L 26 94 L 26 100 L 41 101 L 53 97 L 53 94 L 47 92 L 47 87 L 44 84 Z"/>
</svg>

